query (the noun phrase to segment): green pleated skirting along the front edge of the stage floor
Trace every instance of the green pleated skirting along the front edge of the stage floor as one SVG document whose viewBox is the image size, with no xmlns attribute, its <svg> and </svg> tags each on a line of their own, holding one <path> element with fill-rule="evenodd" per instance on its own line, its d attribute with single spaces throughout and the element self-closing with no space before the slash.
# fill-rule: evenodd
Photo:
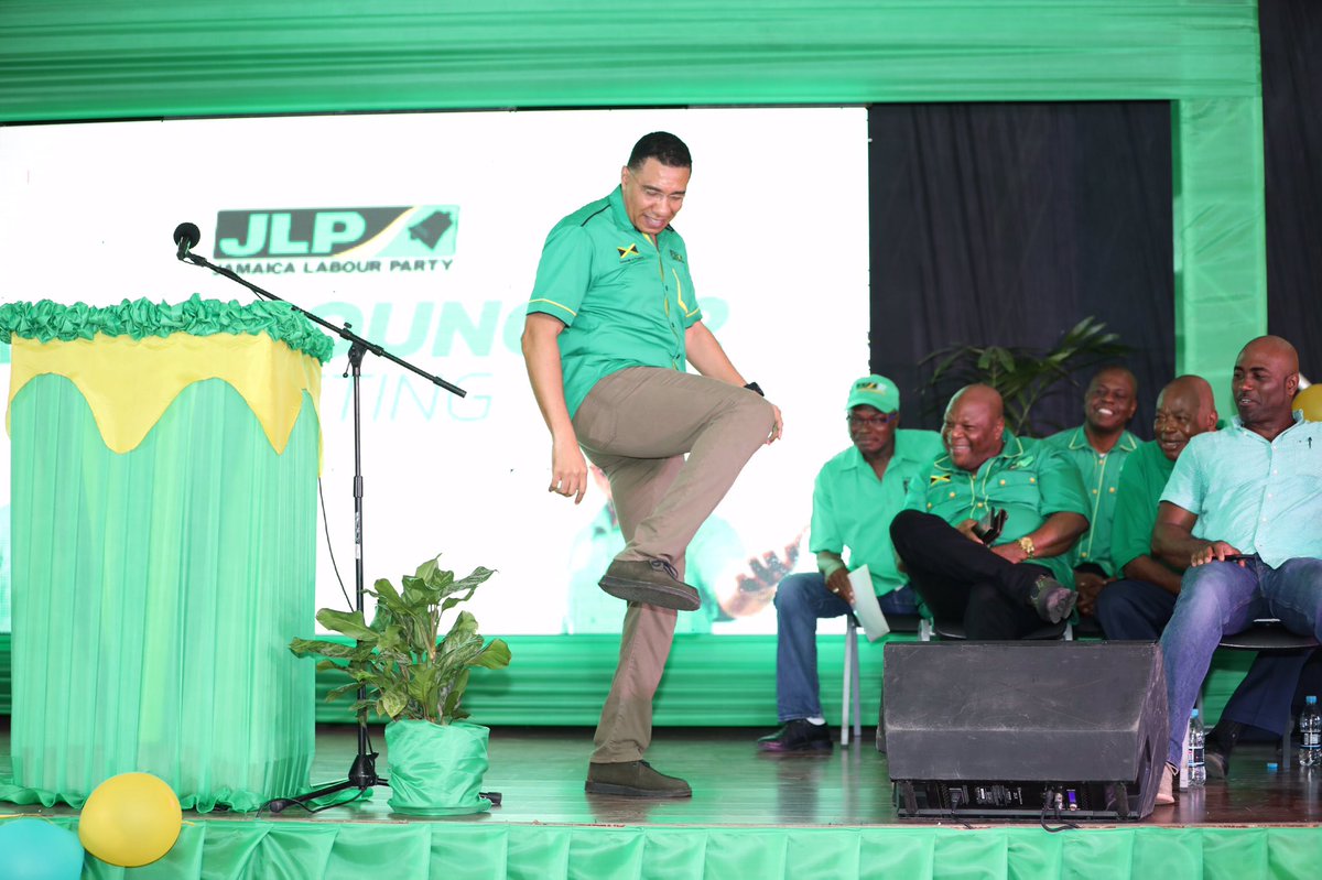
<svg viewBox="0 0 1322 880">
<path fill-rule="evenodd" d="M 56 819 L 75 828 L 75 819 Z M 715 828 L 476 822 L 185 825 L 160 862 L 83 877 L 131 880 L 924 880 L 1315 877 L 1317 827 Z"/>
</svg>

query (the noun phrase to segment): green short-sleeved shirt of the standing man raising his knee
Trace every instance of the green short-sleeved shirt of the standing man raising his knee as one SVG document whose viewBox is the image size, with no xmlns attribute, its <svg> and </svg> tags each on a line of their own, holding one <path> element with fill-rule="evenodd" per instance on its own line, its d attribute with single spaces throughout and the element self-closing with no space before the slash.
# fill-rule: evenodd
<svg viewBox="0 0 1322 880">
<path fill-rule="evenodd" d="M 546 237 L 527 312 L 564 322 L 559 346 L 570 418 L 612 373 L 685 370 L 683 332 L 702 317 L 683 239 L 669 226 L 656 242 L 636 230 L 620 188 Z"/>
</svg>

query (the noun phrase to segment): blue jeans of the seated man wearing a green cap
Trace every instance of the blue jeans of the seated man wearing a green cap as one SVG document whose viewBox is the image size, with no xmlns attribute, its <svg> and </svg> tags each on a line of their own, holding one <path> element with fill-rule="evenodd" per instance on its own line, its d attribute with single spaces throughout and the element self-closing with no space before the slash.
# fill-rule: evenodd
<svg viewBox="0 0 1322 880">
<path fill-rule="evenodd" d="M 902 587 L 878 600 L 887 614 L 916 614 L 914 591 Z M 776 588 L 776 714 L 781 721 L 820 717 L 817 620 L 849 613 L 818 572 L 789 575 Z"/>
</svg>

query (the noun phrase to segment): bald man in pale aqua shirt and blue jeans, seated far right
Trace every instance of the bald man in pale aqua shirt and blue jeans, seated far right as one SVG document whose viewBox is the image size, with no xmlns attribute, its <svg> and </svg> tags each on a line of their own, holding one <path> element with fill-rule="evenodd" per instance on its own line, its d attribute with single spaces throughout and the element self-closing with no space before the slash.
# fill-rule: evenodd
<svg viewBox="0 0 1322 880">
<path fill-rule="evenodd" d="M 1297 416 L 1300 358 L 1285 340 L 1253 340 L 1235 361 L 1231 427 L 1188 441 L 1162 492 L 1153 551 L 1187 566 L 1161 645 L 1170 715 L 1157 799 L 1173 802 L 1185 719 L 1222 636 L 1278 617 L 1322 638 L 1322 423 Z"/>
</svg>

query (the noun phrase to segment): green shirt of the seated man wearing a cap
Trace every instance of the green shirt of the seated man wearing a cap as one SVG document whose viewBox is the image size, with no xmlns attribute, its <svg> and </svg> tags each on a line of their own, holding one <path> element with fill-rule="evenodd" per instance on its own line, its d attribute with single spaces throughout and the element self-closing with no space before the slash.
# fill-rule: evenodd
<svg viewBox="0 0 1322 880">
<path fill-rule="evenodd" d="M 891 519 L 904 509 L 910 484 L 919 469 L 941 452 L 935 431 L 895 431 L 895 453 L 880 480 L 850 447 L 822 465 L 813 485 L 813 519 L 809 550 L 843 555 L 849 567 L 867 566 L 873 589 L 883 596 L 908 583 L 895 568 Z"/>
</svg>

